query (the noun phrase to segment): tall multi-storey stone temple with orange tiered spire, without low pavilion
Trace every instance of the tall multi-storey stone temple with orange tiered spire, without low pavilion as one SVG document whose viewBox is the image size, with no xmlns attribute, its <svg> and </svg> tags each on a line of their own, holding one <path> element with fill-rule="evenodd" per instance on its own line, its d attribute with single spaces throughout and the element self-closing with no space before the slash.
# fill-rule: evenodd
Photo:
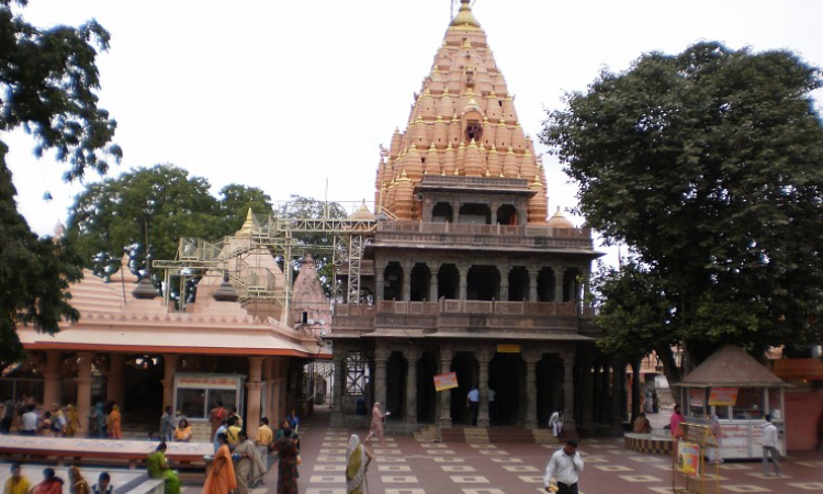
<svg viewBox="0 0 823 494">
<path fill-rule="evenodd" d="M 584 301 L 600 254 L 560 209 L 548 217 L 545 186 L 464 0 L 405 131 L 381 149 L 362 258 L 337 272 L 332 425 L 373 402 L 397 431 L 467 425 L 478 386 L 478 427 L 537 428 L 562 409 L 571 427 L 620 429 L 621 367 L 596 351 Z M 436 390 L 452 372 L 456 388 Z"/>
</svg>

